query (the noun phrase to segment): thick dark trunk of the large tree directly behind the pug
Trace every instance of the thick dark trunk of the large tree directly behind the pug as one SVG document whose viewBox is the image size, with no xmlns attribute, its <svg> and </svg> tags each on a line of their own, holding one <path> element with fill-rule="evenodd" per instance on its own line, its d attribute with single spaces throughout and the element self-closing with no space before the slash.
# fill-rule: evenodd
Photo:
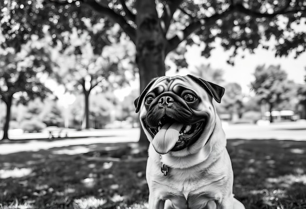
<svg viewBox="0 0 306 209">
<path fill-rule="evenodd" d="M 155 9 L 155 1 L 136 1 L 138 14 L 136 16 L 136 63 L 139 69 L 140 91 L 149 82 L 165 75 L 166 37 L 161 29 Z M 144 131 L 141 129 L 139 144 L 148 146 Z"/>
</svg>

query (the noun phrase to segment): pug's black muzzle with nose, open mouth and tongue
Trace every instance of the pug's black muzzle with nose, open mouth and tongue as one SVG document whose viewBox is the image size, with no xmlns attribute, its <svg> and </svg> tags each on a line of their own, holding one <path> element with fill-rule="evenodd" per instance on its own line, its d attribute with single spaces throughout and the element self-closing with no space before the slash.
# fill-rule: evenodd
<svg viewBox="0 0 306 209">
<path fill-rule="evenodd" d="M 166 154 L 196 142 L 206 118 L 198 119 L 182 98 L 165 92 L 153 99 L 143 122 L 153 137 L 152 145 L 156 152 Z"/>
</svg>

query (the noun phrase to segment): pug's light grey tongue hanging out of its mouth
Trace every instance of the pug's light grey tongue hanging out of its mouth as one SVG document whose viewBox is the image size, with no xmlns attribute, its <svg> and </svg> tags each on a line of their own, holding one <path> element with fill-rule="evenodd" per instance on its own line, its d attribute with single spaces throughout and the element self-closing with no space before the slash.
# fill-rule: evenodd
<svg viewBox="0 0 306 209">
<path fill-rule="evenodd" d="M 182 129 L 183 124 L 165 124 L 157 132 L 152 141 L 152 145 L 156 152 L 159 154 L 168 153 L 178 141 L 179 132 Z"/>
</svg>

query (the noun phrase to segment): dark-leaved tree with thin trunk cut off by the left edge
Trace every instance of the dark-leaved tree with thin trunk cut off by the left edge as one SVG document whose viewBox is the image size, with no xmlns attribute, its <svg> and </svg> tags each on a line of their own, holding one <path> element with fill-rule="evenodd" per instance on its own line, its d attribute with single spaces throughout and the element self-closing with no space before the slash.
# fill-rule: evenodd
<svg viewBox="0 0 306 209">
<path fill-rule="evenodd" d="M 0 99 L 6 104 L 3 140 L 8 140 L 13 98 L 26 103 L 36 97 L 45 98 L 51 93 L 41 81 L 52 72 L 50 52 L 41 42 L 36 42 L 35 37 L 32 39 L 18 53 L 12 48 L 0 53 Z"/>
</svg>

